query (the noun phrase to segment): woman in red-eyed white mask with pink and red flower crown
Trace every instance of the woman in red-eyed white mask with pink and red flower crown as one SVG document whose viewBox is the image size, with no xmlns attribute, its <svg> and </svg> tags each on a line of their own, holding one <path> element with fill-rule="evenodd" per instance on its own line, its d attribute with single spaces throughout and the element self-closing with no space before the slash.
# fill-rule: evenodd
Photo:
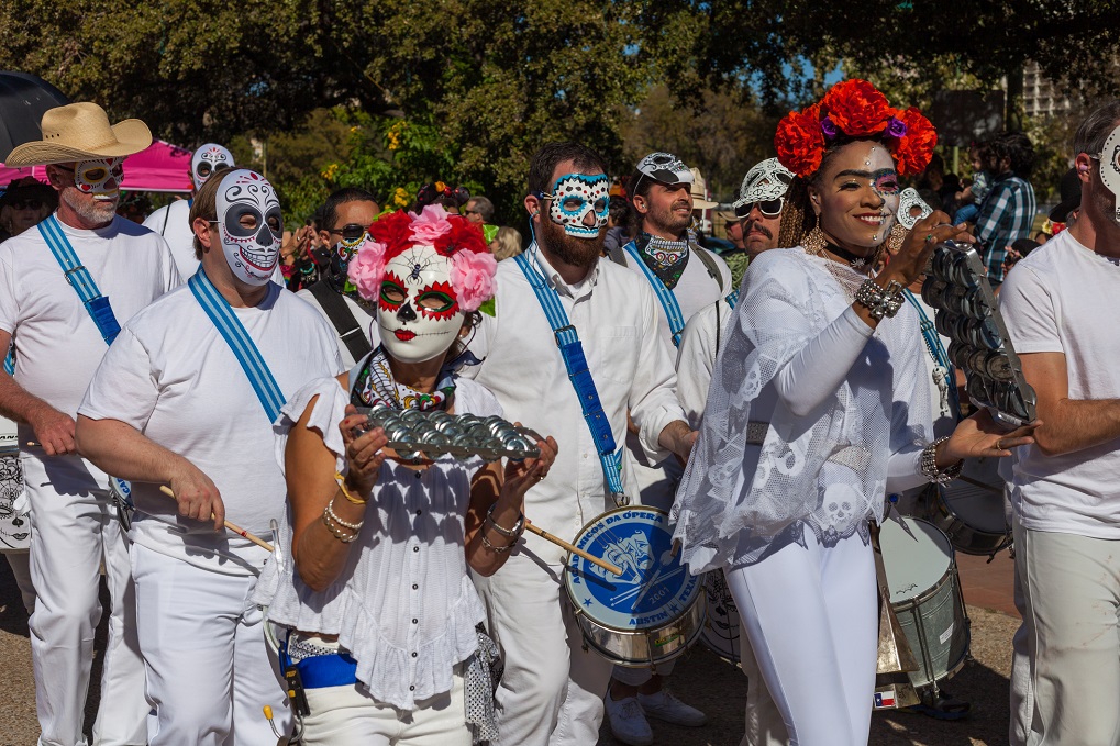
<svg viewBox="0 0 1120 746">
<path fill-rule="evenodd" d="M 382 428 L 352 432 L 365 422 L 355 405 L 502 413 L 455 374 L 496 267 L 480 230 L 442 207 L 377 220 L 348 274 L 379 305 L 381 345 L 282 410 L 291 523 L 280 541 L 291 561 L 270 565 L 259 600 L 290 628 L 287 655 L 305 682 L 324 666 L 346 669 L 307 688 L 304 743 L 467 746 L 496 736 L 484 665 L 495 651 L 475 630 L 484 610 L 467 565 L 491 575 L 505 562 L 524 493 L 547 475 L 556 441 L 502 469 L 478 457 L 402 456 Z"/>
</svg>

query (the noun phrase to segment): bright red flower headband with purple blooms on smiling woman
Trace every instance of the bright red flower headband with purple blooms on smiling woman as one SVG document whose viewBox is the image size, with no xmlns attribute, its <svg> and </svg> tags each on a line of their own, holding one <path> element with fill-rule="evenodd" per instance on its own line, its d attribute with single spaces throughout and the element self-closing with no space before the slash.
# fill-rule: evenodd
<svg viewBox="0 0 1120 746">
<path fill-rule="evenodd" d="M 774 147 L 783 166 L 802 178 L 821 167 L 824 149 L 841 137 L 879 136 L 894 156 L 899 176 L 921 174 L 930 165 L 937 132 L 914 106 L 892 109 L 867 81 L 851 80 L 829 88 L 804 111 L 778 122 Z"/>
</svg>

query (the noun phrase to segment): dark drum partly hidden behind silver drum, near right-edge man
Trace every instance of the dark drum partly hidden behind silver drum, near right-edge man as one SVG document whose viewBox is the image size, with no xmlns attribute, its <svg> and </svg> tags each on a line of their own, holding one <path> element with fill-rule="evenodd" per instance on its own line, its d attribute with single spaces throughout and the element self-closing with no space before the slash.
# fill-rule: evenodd
<svg viewBox="0 0 1120 746">
<path fill-rule="evenodd" d="M 998 458 L 977 458 L 964 463 L 962 476 L 988 485 L 981 487 L 963 479 L 949 485 L 931 485 L 922 517 L 949 535 L 958 551 L 965 554 L 992 554 L 1007 547 L 1010 531 L 1004 514 L 1004 479 Z"/>
</svg>

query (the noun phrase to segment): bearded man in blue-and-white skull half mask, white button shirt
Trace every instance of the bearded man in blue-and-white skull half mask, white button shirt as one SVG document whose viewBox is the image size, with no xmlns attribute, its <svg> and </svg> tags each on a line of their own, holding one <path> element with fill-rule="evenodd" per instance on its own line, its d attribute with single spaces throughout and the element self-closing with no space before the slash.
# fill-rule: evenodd
<svg viewBox="0 0 1120 746">
<path fill-rule="evenodd" d="M 533 157 L 525 209 L 535 241 L 524 259 L 498 263 L 494 306 L 483 308 L 470 342 L 483 362 L 467 374 L 494 392 L 505 418 L 556 435 L 556 467 L 525 495 L 525 517 L 567 540 L 625 495 L 637 496 L 633 459 L 619 447 L 627 412 L 652 463 L 670 454 L 685 458 L 694 439 L 676 403 L 650 285 L 600 261 L 609 187 L 603 158 L 581 144 L 551 143 Z M 582 345 L 617 444 L 610 453 L 605 447 L 601 458 L 558 347 L 561 335 L 531 281 L 567 315 L 570 326 L 558 332 L 575 332 Z M 564 550 L 526 533 L 501 572 L 475 578 L 505 654 L 496 746 L 598 739 L 613 665 L 584 647 L 561 587 L 566 560 Z"/>
</svg>

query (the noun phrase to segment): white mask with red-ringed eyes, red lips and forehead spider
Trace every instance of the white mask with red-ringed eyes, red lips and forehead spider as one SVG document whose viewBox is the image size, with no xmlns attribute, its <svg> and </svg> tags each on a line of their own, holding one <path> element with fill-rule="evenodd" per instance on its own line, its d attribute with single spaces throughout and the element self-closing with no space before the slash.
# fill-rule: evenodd
<svg viewBox="0 0 1120 746">
<path fill-rule="evenodd" d="M 410 246 L 385 263 L 377 329 L 389 354 L 420 363 L 447 353 L 466 315 L 451 288 L 451 260 L 435 246 Z"/>
</svg>

